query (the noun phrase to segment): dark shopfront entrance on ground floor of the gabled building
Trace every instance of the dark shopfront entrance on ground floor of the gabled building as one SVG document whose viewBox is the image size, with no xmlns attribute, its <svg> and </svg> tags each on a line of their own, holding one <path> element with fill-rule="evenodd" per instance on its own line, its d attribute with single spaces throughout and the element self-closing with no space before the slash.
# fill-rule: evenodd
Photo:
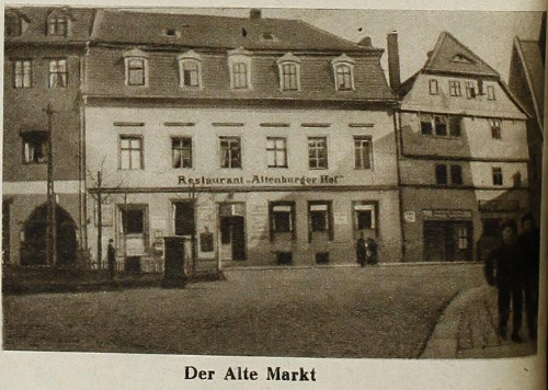
<svg viewBox="0 0 548 390">
<path fill-rule="evenodd" d="M 471 221 L 424 221 L 424 261 L 468 261 L 471 254 Z"/>
</svg>

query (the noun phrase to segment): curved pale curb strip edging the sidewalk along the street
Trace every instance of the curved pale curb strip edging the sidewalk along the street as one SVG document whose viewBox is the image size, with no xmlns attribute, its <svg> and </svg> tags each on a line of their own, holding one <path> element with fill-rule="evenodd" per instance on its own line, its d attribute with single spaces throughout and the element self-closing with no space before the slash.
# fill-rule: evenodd
<svg viewBox="0 0 548 390">
<path fill-rule="evenodd" d="M 459 292 L 445 308 L 430 336 L 421 358 L 452 359 L 457 356 L 458 326 L 465 308 L 481 294 L 487 286 L 475 287 Z"/>
</svg>

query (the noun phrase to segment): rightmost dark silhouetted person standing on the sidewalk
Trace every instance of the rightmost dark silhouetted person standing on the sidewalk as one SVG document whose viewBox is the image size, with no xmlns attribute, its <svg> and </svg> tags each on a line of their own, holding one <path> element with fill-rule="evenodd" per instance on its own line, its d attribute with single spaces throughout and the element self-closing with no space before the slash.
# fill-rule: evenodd
<svg viewBox="0 0 548 390">
<path fill-rule="evenodd" d="M 520 251 L 524 268 L 525 311 L 527 313 L 527 329 L 529 337 L 537 336 L 538 312 L 538 277 L 540 259 L 540 231 L 535 226 L 532 214 L 522 218 L 522 236 L 518 238 Z"/>
</svg>

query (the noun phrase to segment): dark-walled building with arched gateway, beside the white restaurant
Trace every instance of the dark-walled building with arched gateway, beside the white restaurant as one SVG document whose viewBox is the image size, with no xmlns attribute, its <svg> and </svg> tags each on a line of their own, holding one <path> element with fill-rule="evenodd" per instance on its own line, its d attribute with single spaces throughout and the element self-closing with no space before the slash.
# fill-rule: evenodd
<svg viewBox="0 0 548 390">
<path fill-rule="evenodd" d="M 57 256 L 71 263 L 82 237 L 81 74 L 94 11 L 5 10 L 3 262 L 46 265 L 47 176 L 56 197 Z M 46 108 L 50 105 L 50 126 Z M 52 152 L 48 152 L 48 137 Z"/>
</svg>

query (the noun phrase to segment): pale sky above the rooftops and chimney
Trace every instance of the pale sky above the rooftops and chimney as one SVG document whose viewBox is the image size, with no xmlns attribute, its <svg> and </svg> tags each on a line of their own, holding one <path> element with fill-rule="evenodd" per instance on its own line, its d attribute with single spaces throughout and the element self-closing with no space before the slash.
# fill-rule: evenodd
<svg viewBox="0 0 548 390">
<path fill-rule="evenodd" d="M 248 16 L 248 9 L 156 9 L 182 12 Z M 386 49 L 386 35 L 399 35 L 401 79 L 406 80 L 424 65 L 426 53 L 434 48 L 443 31 L 452 33 L 507 81 L 512 43 L 538 39 L 540 12 L 512 11 L 402 11 L 402 10 L 310 10 L 262 9 L 263 18 L 300 19 L 352 42 L 365 36 Z M 387 54 L 381 58 L 387 70 Z"/>
</svg>

